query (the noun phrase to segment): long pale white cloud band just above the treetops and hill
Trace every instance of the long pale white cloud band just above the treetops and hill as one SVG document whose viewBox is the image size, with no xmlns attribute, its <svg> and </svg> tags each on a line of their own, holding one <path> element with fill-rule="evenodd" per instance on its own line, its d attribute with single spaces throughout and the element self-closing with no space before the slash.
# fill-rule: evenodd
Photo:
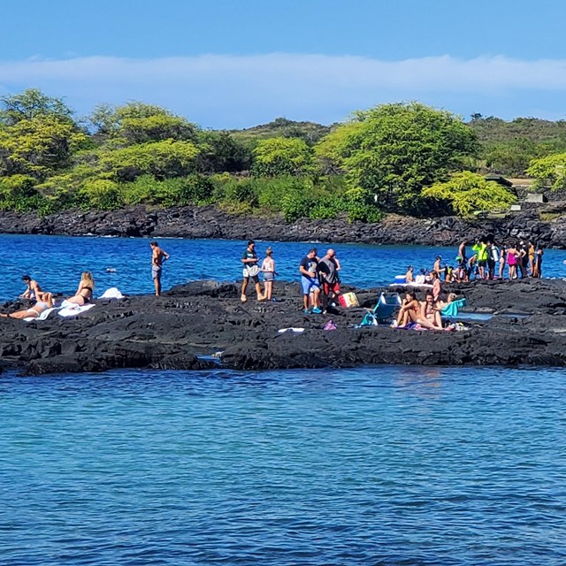
<svg viewBox="0 0 566 566">
<path fill-rule="evenodd" d="M 32 87 L 64 96 L 80 113 L 96 103 L 141 100 L 215 127 L 252 126 L 281 115 L 330 123 L 350 111 L 399 100 L 422 100 L 463 114 L 483 111 L 513 118 L 536 109 L 555 117 L 562 112 L 566 60 L 443 56 L 384 61 L 273 53 L 0 61 L 0 91 Z"/>
</svg>

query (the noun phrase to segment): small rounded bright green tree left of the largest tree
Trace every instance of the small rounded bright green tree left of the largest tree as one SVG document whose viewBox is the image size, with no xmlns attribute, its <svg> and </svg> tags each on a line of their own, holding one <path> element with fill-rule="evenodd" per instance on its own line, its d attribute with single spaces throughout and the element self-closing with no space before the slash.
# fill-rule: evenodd
<svg viewBox="0 0 566 566">
<path fill-rule="evenodd" d="M 254 149 L 252 173 L 258 177 L 314 172 L 313 150 L 297 138 L 262 140 Z"/>
</svg>

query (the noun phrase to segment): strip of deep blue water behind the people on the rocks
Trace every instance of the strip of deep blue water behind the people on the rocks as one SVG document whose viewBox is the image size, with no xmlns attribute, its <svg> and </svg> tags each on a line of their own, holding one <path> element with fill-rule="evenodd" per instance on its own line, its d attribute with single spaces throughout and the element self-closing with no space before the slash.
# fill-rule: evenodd
<svg viewBox="0 0 566 566">
<path fill-rule="evenodd" d="M 164 289 L 195 279 L 241 280 L 241 255 L 245 241 L 161 239 L 171 254 L 164 264 Z M 271 245 L 279 279 L 298 279 L 298 266 L 312 245 L 324 255 L 325 244 L 258 241 L 260 258 Z M 118 287 L 124 294 L 152 293 L 149 239 L 95 238 L 0 234 L 4 249 L 0 270 L 0 301 L 20 294 L 21 276 L 30 274 L 44 289 L 73 294 L 80 273 L 93 272 L 96 294 Z M 340 258 L 342 280 L 357 287 L 377 287 L 392 283 L 412 264 L 432 269 L 437 255 L 447 264 L 455 264 L 455 248 L 425 246 L 369 246 L 338 244 L 333 246 Z M 543 275 L 566 277 L 566 250 L 547 250 Z M 108 270 L 111 270 L 110 272 Z"/>
</svg>

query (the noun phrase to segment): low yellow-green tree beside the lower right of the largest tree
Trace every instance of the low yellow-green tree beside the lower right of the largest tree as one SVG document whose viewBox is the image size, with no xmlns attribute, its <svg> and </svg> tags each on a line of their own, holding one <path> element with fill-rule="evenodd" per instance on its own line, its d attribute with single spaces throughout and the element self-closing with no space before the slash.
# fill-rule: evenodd
<svg viewBox="0 0 566 566">
<path fill-rule="evenodd" d="M 448 205 L 463 217 L 483 210 L 507 209 L 516 202 L 516 195 L 506 187 L 469 171 L 455 173 L 444 183 L 426 187 L 423 196 Z"/>
</svg>

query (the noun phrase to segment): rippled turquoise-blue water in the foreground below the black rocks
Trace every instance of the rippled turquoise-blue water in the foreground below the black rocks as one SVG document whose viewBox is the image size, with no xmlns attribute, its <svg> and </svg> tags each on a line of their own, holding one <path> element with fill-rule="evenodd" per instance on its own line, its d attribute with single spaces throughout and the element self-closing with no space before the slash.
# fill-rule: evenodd
<svg viewBox="0 0 566 566">
<path fill-rule="evenodd" d="M 0 562 L 566 563 L 566 372 L 0 375 Z"/>
</svg>

